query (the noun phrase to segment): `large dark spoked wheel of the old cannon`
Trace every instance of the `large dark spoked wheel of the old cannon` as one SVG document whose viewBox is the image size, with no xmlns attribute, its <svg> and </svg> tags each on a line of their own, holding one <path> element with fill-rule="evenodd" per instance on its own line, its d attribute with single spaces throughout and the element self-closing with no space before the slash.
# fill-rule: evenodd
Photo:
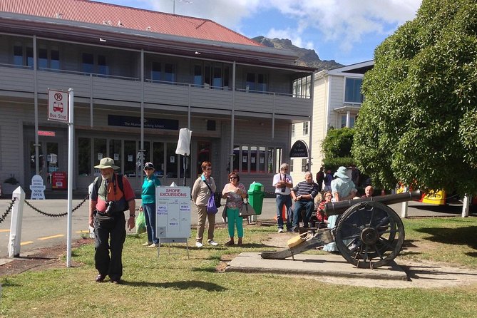
<svg viewBox="0 0 477 318">
<path fill-rule="evenodd" d="M 404 243 L 404 225 L 399 215 L 380 202 L 361 202 L 349 207 L 336 227 L 340 254 L 360 268 L 388 264 Z"/>
</svg>

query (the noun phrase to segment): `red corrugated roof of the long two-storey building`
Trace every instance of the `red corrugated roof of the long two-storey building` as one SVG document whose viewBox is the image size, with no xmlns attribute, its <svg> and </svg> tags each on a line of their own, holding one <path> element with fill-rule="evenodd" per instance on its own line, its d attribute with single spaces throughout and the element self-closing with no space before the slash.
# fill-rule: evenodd
<svg viewBox="0 0 477 318">
<path fill-rule="evenodd" d="M 88 0 L 1 0 L 0 11 L 111 25 L 171 36 L 262 46 L 211 20 Z"/>
</svg>

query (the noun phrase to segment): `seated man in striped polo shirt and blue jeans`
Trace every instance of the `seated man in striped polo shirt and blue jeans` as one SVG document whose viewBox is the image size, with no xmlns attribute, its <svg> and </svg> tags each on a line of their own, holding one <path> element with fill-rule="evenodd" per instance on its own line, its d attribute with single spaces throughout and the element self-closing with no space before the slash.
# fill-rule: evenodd
<svg viewBox="0 0 477 318">
<path fill-rule="evenodd" d="M 299 212 L 305 209 L 305 215 L 303 217 L 303 227 L 308 227 L 309 218 L 312 217 L 314 208 L 314 197 L 318 194 L 318 185 L 313 182 L 313 175 L 309 171 L 304 174 L 304 181 L 297 184 L 292 188 L 292 198 L 294 200 L 293 209 L 293 231 L 299 232 Z"/>
</svg>

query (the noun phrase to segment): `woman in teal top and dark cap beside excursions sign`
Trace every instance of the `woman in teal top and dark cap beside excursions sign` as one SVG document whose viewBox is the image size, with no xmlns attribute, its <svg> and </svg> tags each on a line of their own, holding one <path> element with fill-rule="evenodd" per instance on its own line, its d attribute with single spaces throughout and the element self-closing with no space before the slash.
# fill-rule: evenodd
<svg viewBox="0 0 477 318">
<path fill-rule="evenodd" d="M 155 187 L 160 185 L 160 180 L 155 177 L 154 170 L 153 163 L 145 163 L 143 192 L 140 196 L 143 204 L 139 210 L 145 213 L 145 228 L 148 231 L 148 242 L 145 242 L 143 246 L 147 247 L 159 246 L 159 239 L 155 235 Z"/>
</svg>

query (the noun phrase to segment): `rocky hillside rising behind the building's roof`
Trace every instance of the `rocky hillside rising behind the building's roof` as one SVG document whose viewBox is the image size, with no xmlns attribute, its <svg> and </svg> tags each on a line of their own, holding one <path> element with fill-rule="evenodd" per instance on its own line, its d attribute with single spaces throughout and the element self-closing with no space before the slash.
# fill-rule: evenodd
<svg viewBox="0 0 477 318">
<path fill-rule="evenodd" d="M 252 39 L 258 43 L 262 43 L 265 46 L 270 48 L 282 48 L 289 51 L 294 51 L 297 53 L 297 65 L 299 66 L 309 66 L 312 68 L 317 68 L 318 71 L 322 70 L 331 70 L 343 66 L 340 63 L 337 63 L 334 60 L 331 61 L 322 61 L 319 59 L 318 54 L 314 50 L 309 50 L 307 48 L 299 48 L 294 46 L 292 41 L 289 39 L 268 39 L 265 36 L 256 36 Z"/>
</svg>

